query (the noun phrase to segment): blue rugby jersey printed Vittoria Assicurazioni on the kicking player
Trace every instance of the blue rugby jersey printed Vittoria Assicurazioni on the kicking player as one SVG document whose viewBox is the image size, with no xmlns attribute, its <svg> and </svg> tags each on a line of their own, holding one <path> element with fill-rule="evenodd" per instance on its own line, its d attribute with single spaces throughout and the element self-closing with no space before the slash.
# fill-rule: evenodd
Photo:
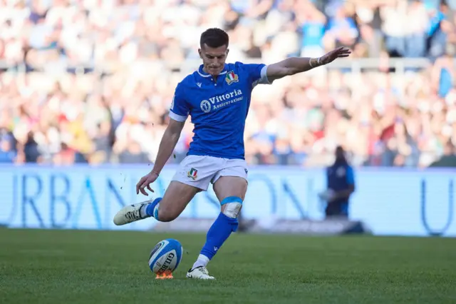
<svg viewBox="0 0 456 304">
<path fill-rule="evenodd" d="M 264 64 L 225 64 L 214 78 L 198 71 L 177 84 L 170 118 L 195 128 L 187 155 L 244 159 L 244 127 L 254 86 L 269 84 Z"/>
</svg>

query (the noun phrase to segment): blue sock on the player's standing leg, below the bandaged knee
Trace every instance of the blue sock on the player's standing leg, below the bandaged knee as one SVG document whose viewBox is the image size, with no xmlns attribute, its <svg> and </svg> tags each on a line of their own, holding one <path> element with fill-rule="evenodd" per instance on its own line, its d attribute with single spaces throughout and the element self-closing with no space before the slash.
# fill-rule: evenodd
<svg viewBox="0 0 456 304">
<path fill-rule="evenodd" d="M 229 218 L 220 213 L 211 228 L 209 228 L 209 231 L 207 231 L 206 243 L 201 250 L 201 254 L 207 256 L 209 260 L 212 259 L 229 235 L 237 230 L 237 226 L 237 218 Z"/>
</svg>

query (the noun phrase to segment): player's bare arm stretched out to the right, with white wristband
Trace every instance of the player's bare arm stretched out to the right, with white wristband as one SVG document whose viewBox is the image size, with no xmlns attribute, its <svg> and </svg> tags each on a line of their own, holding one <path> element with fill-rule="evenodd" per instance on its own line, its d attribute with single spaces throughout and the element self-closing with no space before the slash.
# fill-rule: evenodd
<svg viewBox="0 0 456 304">
<path fill-rule="evenodd" d="M 314 69 L 317 66 L 323 66 L 329 64 L 338 58 L 348 57 L 351 54 L 351 51 L 347 48 L 337 48 L 333 49 L 329 53 L 321 56 L 320 58 L 309 58 L 309 57 L 291 57 L 283 61 L 279 61 L 276 64 L 271 64 L 268 66 L 266 71 L 266 76 L 268 77 L 269 82 L 276 79 L 283 78 L 285 76 L 290 76 L 310 69 Z"/>
</svg>

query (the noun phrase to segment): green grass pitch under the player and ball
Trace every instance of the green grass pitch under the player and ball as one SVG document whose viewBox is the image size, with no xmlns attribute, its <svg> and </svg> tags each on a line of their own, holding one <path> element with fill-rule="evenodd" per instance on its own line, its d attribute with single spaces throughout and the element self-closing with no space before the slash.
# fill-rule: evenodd
<svg viewBox="0 0 456 304">
<path fill-rule="evenodd" d="M 164 238 L 186 251 L 173 280 L 147 267 Z M 0 229 L 0 303 L 456 303 L 455 239 L 234 234 L 217 280 L 188 280 L 204 238 Z"/>
</svg>

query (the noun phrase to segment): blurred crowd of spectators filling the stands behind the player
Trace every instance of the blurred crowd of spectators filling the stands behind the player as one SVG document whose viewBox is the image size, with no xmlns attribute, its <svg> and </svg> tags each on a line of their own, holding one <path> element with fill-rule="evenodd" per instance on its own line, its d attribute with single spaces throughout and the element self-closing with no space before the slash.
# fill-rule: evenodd
<svg viewBox="0 0 456 304">
<path fill-rule="evenodd" d="M 0 0 L 0 163 L 150 163 L 199 35 L 271 64 L 336 46 L 369 69 L 257 86 L 251 164 L 432 166 L 456 154 L 456 0 Z M 428 59 L 398 71 L 391 58 Z M 187 121 L 174 157 L 192 141 Z"/>
</svg>

